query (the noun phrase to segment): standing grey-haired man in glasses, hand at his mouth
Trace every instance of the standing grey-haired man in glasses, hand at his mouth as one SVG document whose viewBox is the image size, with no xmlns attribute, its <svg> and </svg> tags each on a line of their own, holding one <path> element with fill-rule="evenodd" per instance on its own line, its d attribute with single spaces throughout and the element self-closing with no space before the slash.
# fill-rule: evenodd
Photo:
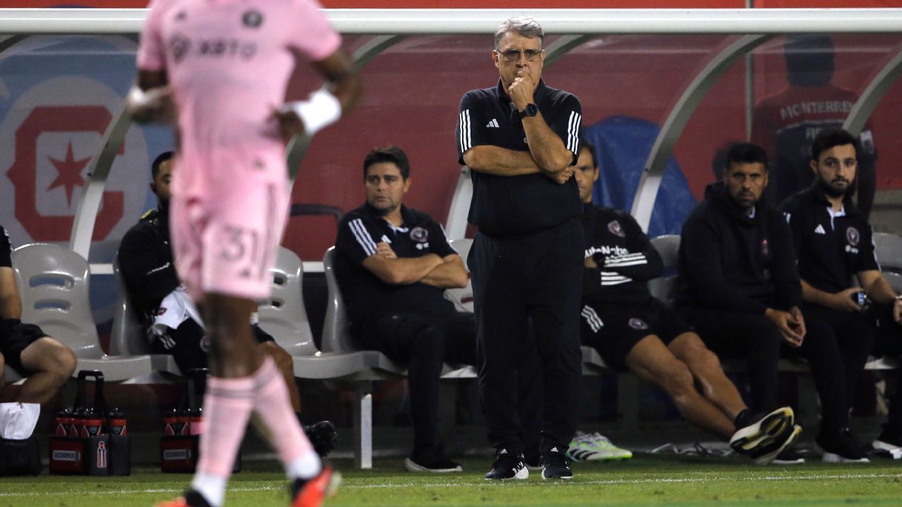
<svg viewBox="0 0 902 507">
<path fill-rule="evenodd" d="M 583 206 L 571 166 L 582 107 L 541 78 L 544 32 L 528 17 L 495 32 L 497 86 L 460 102 L 456 141 L 473 174 L 469 221 L 479 227 L 473 275 L 479 392 L 497 459 L 487 479 L 525 479 L 517 367 L 529 320 L 543 381 L 543 478 L 570 478 L 580 382 L 579 297 Z"/>
</svg>

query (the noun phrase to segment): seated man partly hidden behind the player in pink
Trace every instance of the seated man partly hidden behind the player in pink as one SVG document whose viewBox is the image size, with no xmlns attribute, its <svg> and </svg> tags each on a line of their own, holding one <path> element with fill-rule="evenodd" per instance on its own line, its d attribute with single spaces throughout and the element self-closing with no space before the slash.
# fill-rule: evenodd
<svg viewBox="0 0 902 507">
<path fill-rule="evenodd" d="M 163 152 L 152 163 L 151 190 L 158 199 L 157 209 L 145 214 L 125 233 L 119 246 L 119 265 L 129 299 L 144 319 L 152 349 L 172 355 L 179 369 L 187 373 L 192 368 L 207 367 L 210 346 L 203 320 L 181 287 L 172 260 L 172 157 L 172 152 Z M 288 384 L 292 408 L 299 411 L 300 396 L 291 356 L 259 326 L 253 326 L 253 337 L 260 351 L 272 356 L 279 367 Z"/>
</svg>

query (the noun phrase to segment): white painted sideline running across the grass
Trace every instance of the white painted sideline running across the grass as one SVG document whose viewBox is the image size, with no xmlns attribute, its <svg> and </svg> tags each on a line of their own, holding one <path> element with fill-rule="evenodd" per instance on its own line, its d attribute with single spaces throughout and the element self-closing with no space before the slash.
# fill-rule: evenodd
<svg viewBox="0 0 902 507">
<path fill-rule="evenodd" d="M 704 472 L 698 474 L 707 474 Z M 720 475 L 713 475 L 710 477 L 682 477 L 682 478 L 658 478 L 658 479 L 611 479 L 607 481 L 589 481 L 585 483 L 568 483 L 568 484 L 678 484 L 678 483 L 713 483 L 713 482 L 723 482 L 723 481 L 732 481 L 734 483 L 741 482 L 750 482 L 750 481 L 815 481 L 815 480 L 843 480 L 843 479 L 888 479 L 893 477 L 902 477 L 902 473 L 899 474 L 836 474 L 836 475 L 764 475 L 762 477 L 723 477 Z M 502 483 L 501 481 L 485 481 L 474 483 L 469 480 L 469 478 L 465 482 L 457 482 L 457 483 L 433 483 L 433 484 L 423 484 L 423 483 L 390 483 L 390 484 L 347 484 L 346 482 L 342 484 L 340 489 L 345 490 L 353 490 L 353 489 L 384 489 L 384 488 L 396 488 L 396 487 L 430 487 L 430 488 L 441 488 L 441 487 L 474 487 L 481 485 L 502 485 L 506 484 L 506 482 Z M 524 484 L 524 481 L 516 481 L 513 484 Z M 529 483 L 527 483 L 529 484 Z M 247 486 L 247 487 L 229 487 L 229 492 L 259 492 L 259 491 L 282 491 L 285 489 L 283 485 L 261 485 L 261 486 Z M 128 494 L 128 493 L 182 493 L 185 489 L 181 488 L 165 488 L 165 489 L 133 489 L 133 490 L 115 490 L 115 491 L 91 491 L 91 492 L 82 492 L 76 490 L 70 490 L 65 492 L 27 492 L 27 493 L 0 493 L 0 497 L 8 497 L 8 496 L 65 496 L 74 493 L 90 493 L 94 494 Z"/>
</svg>

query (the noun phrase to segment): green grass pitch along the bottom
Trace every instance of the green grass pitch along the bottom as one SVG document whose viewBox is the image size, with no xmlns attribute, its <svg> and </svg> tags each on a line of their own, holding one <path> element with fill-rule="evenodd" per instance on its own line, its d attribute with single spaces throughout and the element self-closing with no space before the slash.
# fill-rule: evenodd
<svg viewBox="0 0 902 507">
<path fill-rule="evenodd" d="M 464 474 L 423 475 L 403 469 L 400 459 L 376 460 L 373 470 L 336 461 L 344 481 L 327 506 L 695 506 L 695 505 L 902 505 L 902 463 L 867 465 L 750 466 L 732 458 L 639 455 L 620 463 L 575 464 L 569 482 L 503 484 L 483 479 L 489 458 L 463 460 Z M 189 475 L 149 469 L 129 477 L 0 478 L 0 507 L 146 506 L 168 500 Z M 228 507 L 285 506 L 288 494 L 275 464 L 252 463 L 234 476 Z"/>
</svg>

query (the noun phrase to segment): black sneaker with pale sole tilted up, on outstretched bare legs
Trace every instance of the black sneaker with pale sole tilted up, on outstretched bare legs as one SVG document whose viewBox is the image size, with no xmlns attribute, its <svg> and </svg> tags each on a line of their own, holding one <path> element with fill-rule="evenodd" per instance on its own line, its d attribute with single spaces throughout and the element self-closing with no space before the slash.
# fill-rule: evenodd
<svg viewBox="0 0 902 507">
<path fill-rule="evenodd" d="M 739 418 L 737 418 L 739 419 Z M 802 428 L 789 407 L 780 407 L 765 416 L 746 417 L 745 426 L 730 438 L 730 447 L 749 456 L 755 465 L 768 465 L 798 438 Z"/>
</svg>

